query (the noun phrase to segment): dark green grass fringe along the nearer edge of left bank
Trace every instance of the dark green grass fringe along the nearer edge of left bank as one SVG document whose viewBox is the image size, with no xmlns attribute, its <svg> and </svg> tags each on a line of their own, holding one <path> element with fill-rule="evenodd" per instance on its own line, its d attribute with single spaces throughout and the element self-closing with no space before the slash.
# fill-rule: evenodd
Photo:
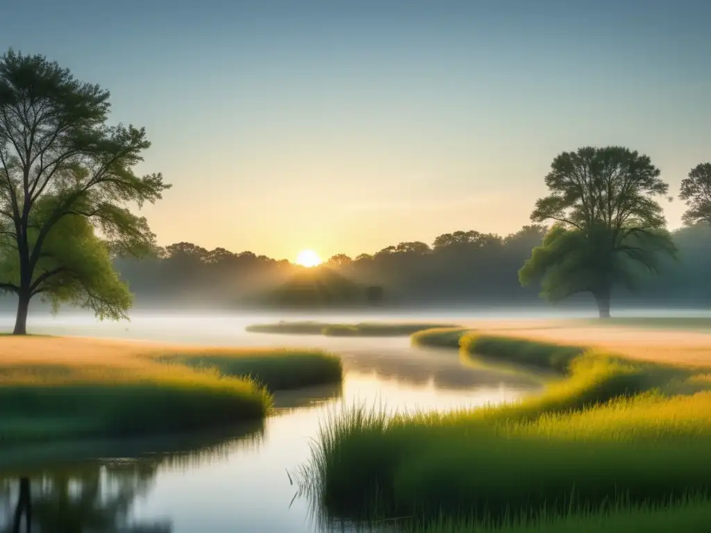
<svg viewBox="0 0 711 533">
<path fill-rule="evenodd" d="M 266 416 L 272 397 L 245 379 L 0 387 L 0 447 L 27 441 L 205 429 Z"/>
</svg>

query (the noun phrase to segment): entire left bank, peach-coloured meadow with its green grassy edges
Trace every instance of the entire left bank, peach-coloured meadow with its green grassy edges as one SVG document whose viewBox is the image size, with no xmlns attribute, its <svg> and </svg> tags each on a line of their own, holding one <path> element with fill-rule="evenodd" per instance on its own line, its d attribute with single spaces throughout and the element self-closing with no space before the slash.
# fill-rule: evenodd
<svg viewBox="0 0 711 533">
<path fill-rule="evenodd" d="M 272 392 L 341 382 L 320 350 L 0 337 L 0 447 L 262 419 Z"/>
</svg>

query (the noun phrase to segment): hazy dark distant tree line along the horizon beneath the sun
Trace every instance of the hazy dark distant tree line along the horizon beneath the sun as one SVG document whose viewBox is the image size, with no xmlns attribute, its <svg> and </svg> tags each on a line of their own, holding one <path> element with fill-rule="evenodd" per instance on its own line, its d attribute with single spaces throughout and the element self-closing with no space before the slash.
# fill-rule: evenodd
<svg viewBox="0 0 711 533">
<path fill-rule="evenodd" d="M 363 288 L 363 292 L 354 291 L 355 296 L 346 303 L 533 305 L 544 303 L 540 286 L 522 287 L 518 271 L 548 230 L 545 225 L 533 224 L 506 237 L 457 231 L 439 235 L 432 244 L 401 242 L 374 254 L 335 254 L 323 266 L 312 269 L 285 259 L 223 248 L 208 250 L 186 242 L 171 244 L 141 261 L 117 259 L 116 266 L 136 295 L 137 306 L 267 306 L 267 295 L 277 287 L 294 279 L 299 280 L 294 285 L 300 288 L 309 279 L 328 284 L 336 277 L 334 272 Z M 661 258 L 656 276 L 642 269 L 636 290 L 621 287 L 614 301 L 642 306 L 711 304 L 710 226 L 701 222 L 683 227 L 671 232 L 671 238 L 678 259 Z M 378 288 L 382 294 L 377 294 Z M 592 299 L 581 296 L 573 301 L 589 305 Z"/>
</svg>

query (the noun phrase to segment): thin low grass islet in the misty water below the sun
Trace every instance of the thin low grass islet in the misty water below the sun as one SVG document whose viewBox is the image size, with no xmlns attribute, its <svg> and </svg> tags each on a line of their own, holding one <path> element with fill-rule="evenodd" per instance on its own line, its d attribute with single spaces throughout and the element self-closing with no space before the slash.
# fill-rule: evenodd
<svg viewBox="0 0 711 533">
<path fill-rule="evenodd" d="M 418 331 L 451 327 L 431 323 L 370 323 L 338 324 L 316 321 L 254 324 L 245 328 L 252 333 L 282 333 L 289 335 L 328 335 L 353 337 L 405 337 Z"/>
</svg>

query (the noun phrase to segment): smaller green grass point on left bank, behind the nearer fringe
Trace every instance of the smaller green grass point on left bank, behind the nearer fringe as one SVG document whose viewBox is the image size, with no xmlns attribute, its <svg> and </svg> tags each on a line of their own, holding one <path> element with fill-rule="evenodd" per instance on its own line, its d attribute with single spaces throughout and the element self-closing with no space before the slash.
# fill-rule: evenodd
<svg viewBox="0 0 711 533">
<path fill-rule="evenodd" d="M 222 375 L 250 377 L 270 391 L 340 383 L 343 379 L 341 357 L 322 350 L 245 349 L 225 354 L 176 354 L 161 359 L 214 368 Z"/>
</svg>

